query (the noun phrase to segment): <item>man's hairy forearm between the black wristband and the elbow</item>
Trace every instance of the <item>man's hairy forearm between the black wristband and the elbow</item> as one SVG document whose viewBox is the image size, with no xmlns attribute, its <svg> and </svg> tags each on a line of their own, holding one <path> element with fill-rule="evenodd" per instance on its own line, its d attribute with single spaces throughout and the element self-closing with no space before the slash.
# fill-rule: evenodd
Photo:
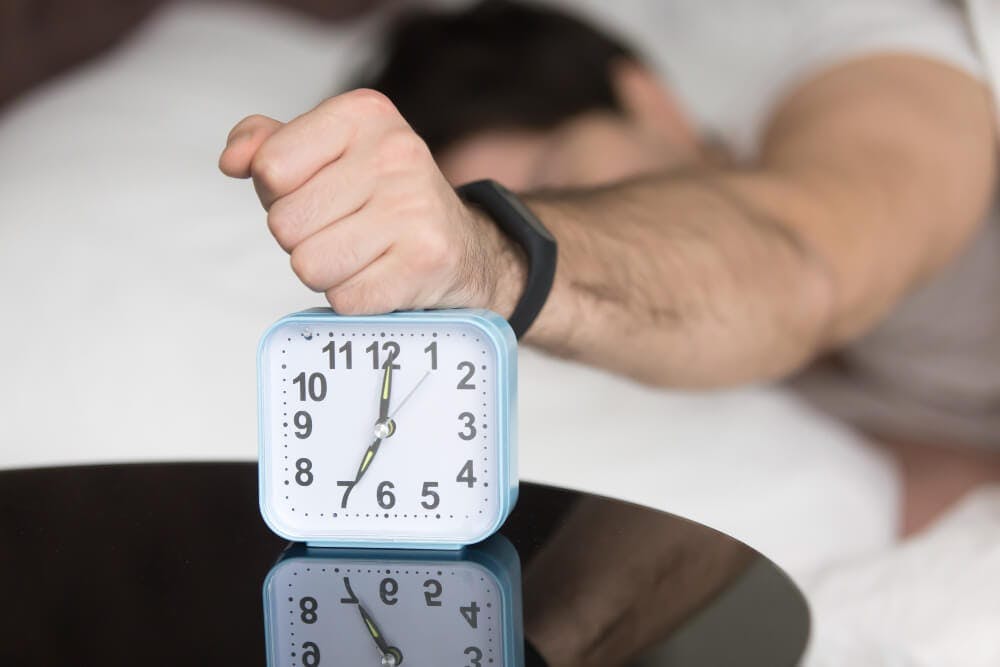
<svg viewBox="0 0 1000 667">
<path fill-rule="evenodd" d="M 832 282 L 792 227 L 763 213 L 758 188 L 767 199 L 774 185 L 687 170 L 527 197 L 560 244 L 528 342 L 677 387 L 801 366 L 825 344 Z"/>
</svg>

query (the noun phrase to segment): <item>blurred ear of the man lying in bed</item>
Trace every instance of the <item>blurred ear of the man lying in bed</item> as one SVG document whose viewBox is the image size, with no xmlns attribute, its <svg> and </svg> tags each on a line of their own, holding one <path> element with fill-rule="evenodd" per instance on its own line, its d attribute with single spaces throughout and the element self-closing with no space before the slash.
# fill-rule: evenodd
<svg viewBox="0 0 1000 667">
<path fill-rule="evenodd" d="M 698 134 L 677 98 L 648 67 L 620 60 L 611 67 L 611 84 L 631 118 L 671 144 L 696 147 Z"/>
</svg>

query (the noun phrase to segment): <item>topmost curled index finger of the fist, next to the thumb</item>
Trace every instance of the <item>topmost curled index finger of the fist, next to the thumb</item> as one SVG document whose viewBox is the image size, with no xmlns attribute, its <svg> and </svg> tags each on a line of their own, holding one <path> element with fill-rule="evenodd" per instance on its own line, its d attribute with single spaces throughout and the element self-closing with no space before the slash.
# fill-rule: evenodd
<svg viewBox="0 0 1000 667">
<path fill-rule="evenodd" d="M 405 121 L 385 95 L 355 90 L 332 97 L 284 125 L 257 151 L 250 166 L 265 208 L 340 158 L 363 132 Z"/>
</svg>

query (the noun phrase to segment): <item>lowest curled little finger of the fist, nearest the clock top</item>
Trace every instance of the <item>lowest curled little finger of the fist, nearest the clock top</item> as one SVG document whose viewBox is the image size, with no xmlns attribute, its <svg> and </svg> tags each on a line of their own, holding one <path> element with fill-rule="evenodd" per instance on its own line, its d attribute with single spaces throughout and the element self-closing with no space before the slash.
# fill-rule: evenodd
<svg viewBox="0 0 1000 667">
<path fill-rule="evenodd" d="M 419 289 L 405 260 L 390 250 L 347 281 L 326 290 L 326 299 L 342 315 L 379 315 L 417 307 Z"/>
</svg>

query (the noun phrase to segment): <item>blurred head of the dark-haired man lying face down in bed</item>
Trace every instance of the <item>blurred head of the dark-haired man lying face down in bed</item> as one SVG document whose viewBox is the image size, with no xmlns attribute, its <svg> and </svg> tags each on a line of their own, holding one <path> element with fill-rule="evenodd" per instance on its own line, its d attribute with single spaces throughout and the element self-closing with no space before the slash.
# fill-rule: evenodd
<svg viewBox="0 0 1000 667">
<path fill-rule="evenodd" d="M 366 85 L 387 94 L 454 182 L 610 182 L 693 159 L 694 132 L 624 44 L 556 10 L 487 0 L 389 33 Z"/>
</svg>

